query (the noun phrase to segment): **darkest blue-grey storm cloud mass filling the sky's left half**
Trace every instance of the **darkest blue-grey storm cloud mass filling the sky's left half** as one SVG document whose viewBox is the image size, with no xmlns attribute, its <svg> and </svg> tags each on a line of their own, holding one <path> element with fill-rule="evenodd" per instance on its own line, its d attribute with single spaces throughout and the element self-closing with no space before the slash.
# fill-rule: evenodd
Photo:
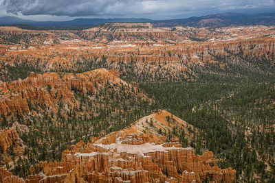
<svg viewBox="0 0 275 183">
<path fill-rule="evenodd" d="M 122 1 L 115 0 L 6 0 L 7 12 L 11 14 L 50 14 L 67 16 L 89 16 L 106 13 L 109 6 Z M 125 3 L 122 2 L 122 3 Z"/>
</svg>

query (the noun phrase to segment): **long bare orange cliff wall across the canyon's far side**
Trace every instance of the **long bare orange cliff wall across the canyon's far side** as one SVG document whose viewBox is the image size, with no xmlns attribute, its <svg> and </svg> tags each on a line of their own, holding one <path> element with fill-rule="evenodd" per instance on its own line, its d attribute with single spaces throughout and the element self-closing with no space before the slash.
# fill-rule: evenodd
<svg viewBox="0 0 275 183">
<path fill-rule="evenodd" d="M 266 56 L 267 58 L 272 58 L 272 55 L 274 56 L 275 39 L 273 36 L 270 36 L 272 30 L 268 30 L 268 27 L 243 27 L 241 30 L 224 28 L 220 29 L 219 32 L 209 32 L 207 29 L 194 29 L 192 32 L 198 32 L 199 35 L 202 34 L 206 38 L 208 38 L 208 35 L 209 38 L 212 38 L 196 42 L 189 40 L 188 36 L 190 36 L 190 32 L 181 32 L 181 30 L 171 32 L 168 28 L 148 28 L 150 27 L 148 25 L 142 25 L 144 29 L 137 31 L 136 28 L 122 25 L 118 25 L 119 28 L 115 29 L 114 32 L 109 27 L 96 27 L 78 32 L 79 34 L 83 33 L 84 36 L 87 34 L 86 36 L 93 37 L 94 32 L 102 31 L 102 33 L 96 34 L 96 38 L 91 38 L 91 40 L 87 41 L 83 41 L 80 38 L 75 40 L 74 35 L 76 34 L 74 34 L 74 31 L 43 32 L 45 36 L 55 36 L 58 38 L 64 34 L 72 35 L 72 37 L 69 37 L 69 40 L 61 41 L 59 44 L 32 44 L 32 47 L 25 50 L 4 51 L 5 53 L 3 56 L 0 56 L 0 60 L 5 64 L 14 64 L 14 62 L 25 62 L 25 60 L 28 60 L 29 64 L 37 64 L 42 71 L 58 71 L 62 69 L 74 70 L 77 68 L 78 62 L 84 62 L 83 60 L 88 62 L 97 58 L 98 60 L 107 58 L 107 66 L 113 69 L 120 68 L 120 62 L 126 65 L 134 62 L 137 63 L 137 67 L 133 71 L 134 73 L 141 73 L 142 71 L 148 73 L 151 72 L 150 70 L 153 73 L 154 71 L 158 71 L 159 64 L 165 70 L 168 69 L 175 73 L 181 73 L 182 67 L 186 64 L 214 62 L 209 53 L 216 56 L 225 56 L 229 54 L 228 51 L 232 51 L 233 53 L 240 53 L 242 51 L 244 56 Z M 0 32 L 5 31 L 5 29 L 0 29 Z M 258 31 L 256 31 L 257 29 Z M 27 30 L 23 31 L 28 32 Z M 147 37 L 151 37 L 151 34 L 156 34 L 155 39 L 158 38 L 159 41 L 139 40 L 138 37 L 132 35 L 135 33 L 140 34 L 141 37 L 146 37 L 147 34 Z M 124 37 L 130 40 L 98 43 L 100 40 L 106 40 L 106 36 L 109 34 L 125 34 Z M 164 34 L 165 40 L 177 40 L 174 42 L 175 45 L 164 43 L 162 34 Z M 232 36 L 234 34 L 238 36 L 235 36 L 235 38 Z M 151 69 L 147 69 L 149 71 L 144 69 L 147 65 L 151 66 Z"/>
</svg>

